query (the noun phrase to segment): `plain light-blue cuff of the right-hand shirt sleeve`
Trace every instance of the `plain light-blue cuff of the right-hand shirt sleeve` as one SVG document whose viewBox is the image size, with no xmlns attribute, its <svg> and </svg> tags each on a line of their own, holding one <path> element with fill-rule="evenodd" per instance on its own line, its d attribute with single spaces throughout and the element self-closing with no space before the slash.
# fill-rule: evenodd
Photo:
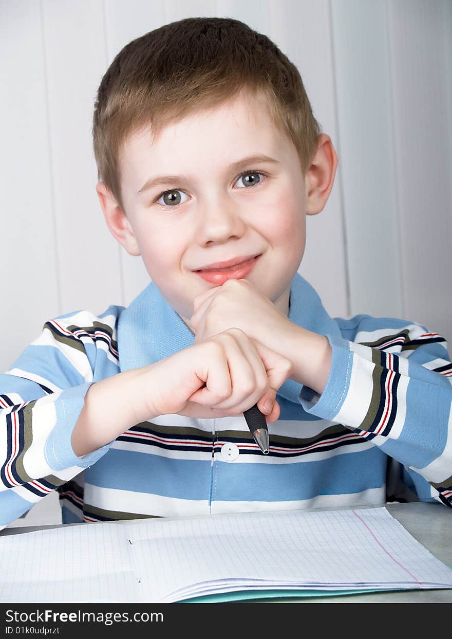
<svg viewBox="0 0 452 639">
<path fill-rule="evenodd" d="M 303 386 L 298 401 L 306 413 L 334 421 L 347 397 L 352 372 L 353 352 L 350 342 L 336 335 L 326 335 L 331 346 L 331 369 L 321 395 Z"/>
</svg>

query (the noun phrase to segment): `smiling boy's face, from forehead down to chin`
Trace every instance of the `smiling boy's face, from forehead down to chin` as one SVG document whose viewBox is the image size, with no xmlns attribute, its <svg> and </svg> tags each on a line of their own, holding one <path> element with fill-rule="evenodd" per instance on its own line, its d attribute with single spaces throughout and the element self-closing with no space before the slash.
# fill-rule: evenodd
<svg viewBox="0 0 452 639">
<path fill-rule="evenodd" d="M 154 141 L 150 128 L 142 130 L 123 148 L 127 217 L 116 206 L 107 223 L 130 254 L 142 256 L 189 327 L 195 296 L 230 277 L 246 277 L 287 316 L 290 282 L 305 250 L 305 216 L 319 211 L 308 210 L 309 180 L 294 144 L 259 102 L 240 95 L 168 125 Z M 160 176 L 174 177 L 143 189 Z M 256 256 L 245 270 L 200 273 Z"/>
</svg>

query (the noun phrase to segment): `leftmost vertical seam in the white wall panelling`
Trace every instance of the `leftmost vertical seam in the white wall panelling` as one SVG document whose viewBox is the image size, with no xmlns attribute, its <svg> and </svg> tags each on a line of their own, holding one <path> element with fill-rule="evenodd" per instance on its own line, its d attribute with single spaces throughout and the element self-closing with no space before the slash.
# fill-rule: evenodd
<svg viewBox="0 0 452 639">
<path fill-rule="evenodd" d="M 51 217 L 54 226 L 54 254 L 55 254 L 55 277 L 56 277 L 56 291 L 57 291 L 57 305 L 58 314 L 61 315 L 62 300 L 61 300 L 61 270 L 60 256 L 58 251 L 58 222 L 56 215 L 56 196 L 55 196 L 55 174 L 54 174 L 54 157 L 52 151 L 52 134 L 50 128 L 50 102 L 49 102 L 49 74 L 47 70 L 47 51 L 45 47 L 45 22 L 44 22 L 44 8 L 43 0 L 39 0 L 39 13 L 40 13 L 40 27 L 41 27 L 41 49 L 43 58 L 43 78 L 44 78 L 44 99 L 45 99 L 45 120 L 47 128 L 47 146 L 49 149 L 49 173 L 50 173 L 50 210 Z"/>
</svg>

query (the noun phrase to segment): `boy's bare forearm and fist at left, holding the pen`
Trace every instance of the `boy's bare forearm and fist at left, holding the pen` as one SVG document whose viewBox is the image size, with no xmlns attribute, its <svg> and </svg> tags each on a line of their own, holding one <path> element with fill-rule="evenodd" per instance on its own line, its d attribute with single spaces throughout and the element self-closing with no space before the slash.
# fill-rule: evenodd
<svg viewBox="0 0 452 639">
<path fill-rule="evenodd" d="M 96 381 L 72 431 L 73 451 L 86 455 L 158 415 L 236 417 L 257 404 L 275 422 L 276 391 L 291 373 L 289 359 L 230 328 L 155 364 Z"/>
</svg>

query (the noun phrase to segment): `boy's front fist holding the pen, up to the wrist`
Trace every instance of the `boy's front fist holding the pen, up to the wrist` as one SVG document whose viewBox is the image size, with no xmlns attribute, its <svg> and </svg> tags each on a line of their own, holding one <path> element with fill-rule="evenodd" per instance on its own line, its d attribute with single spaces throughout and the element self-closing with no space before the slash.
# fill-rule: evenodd
<svg viewBox="0 0 452 639">
<path fill-rule="evenodd" d="M 141 380 L 135 380 L 139 420 L 172 413 L 233 417 L 257 404 L 268 415 L 267 422 L 274 422 L 280 416 L 276 391 L 292 366 L 239 328 L 231 328 L 141 371 Z M 269 414 L 267 399 L 273 403 Z"/>
</svg>

